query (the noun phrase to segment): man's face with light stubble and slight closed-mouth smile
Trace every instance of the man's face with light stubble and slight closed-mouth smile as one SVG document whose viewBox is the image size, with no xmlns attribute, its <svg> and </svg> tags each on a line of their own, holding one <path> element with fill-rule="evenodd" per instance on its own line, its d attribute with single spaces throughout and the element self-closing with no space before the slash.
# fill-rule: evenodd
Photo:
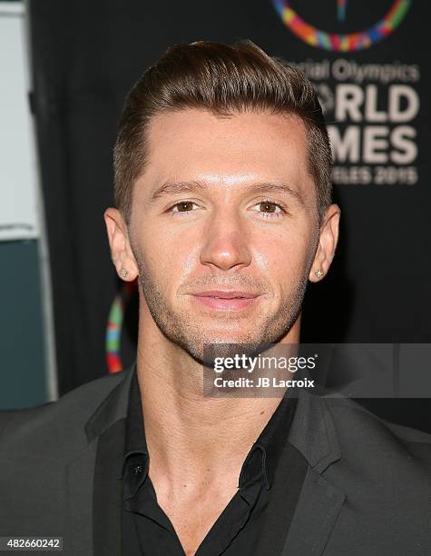
<svg viewBox="0 0 431 556">
<path fill-rule="evenodd" d="M 285 338 L 319 240 L 304 124 L 186 109 L 156 116 L 148 139 L 129 227 L 142 329 L 199 360 L 203 343 Z"/>
</svg>

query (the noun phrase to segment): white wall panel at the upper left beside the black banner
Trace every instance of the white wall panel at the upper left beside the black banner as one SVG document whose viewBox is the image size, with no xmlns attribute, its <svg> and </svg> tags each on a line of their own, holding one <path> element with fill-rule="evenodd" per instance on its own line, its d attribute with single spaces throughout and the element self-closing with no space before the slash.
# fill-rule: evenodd
<svg viewBox="0 0 431 556">
<path fill-rule="evenodd" d="M 0 2 L 0 240 L 39 236 L 24 6 Z"/>
</svg>

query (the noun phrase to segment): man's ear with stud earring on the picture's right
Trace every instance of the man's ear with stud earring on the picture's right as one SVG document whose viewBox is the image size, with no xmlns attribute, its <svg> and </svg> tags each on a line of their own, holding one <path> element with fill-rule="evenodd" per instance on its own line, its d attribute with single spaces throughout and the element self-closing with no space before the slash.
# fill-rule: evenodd
<svg viewBox="0 0 431 556">
<path fill-rule="evenodd" d="M 318 238 L 318 249 L 309 271 L 310 282 L 319 282 L 328 273 L 337 248 L 340 214 L 338 204 L 331 204 L 323 216 Z"/>
</svg>

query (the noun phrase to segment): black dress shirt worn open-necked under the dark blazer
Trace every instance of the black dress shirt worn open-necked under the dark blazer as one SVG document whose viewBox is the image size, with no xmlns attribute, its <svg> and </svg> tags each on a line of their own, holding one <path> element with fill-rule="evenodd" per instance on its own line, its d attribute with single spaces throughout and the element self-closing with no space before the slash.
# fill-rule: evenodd
<svg viewBox="0 0 431 556">
<path fill-rule="evenodd" d="M 251 556 L 255 553 L 276 556 L 281 553 L 308 466 L 287 440 L 296 404 L 294 396 L 285 396 L 279 403 L 242 464 L 239 490 L 212 525 L 195 552 L 196 556 Z M 288 464 L 282 472 L 288 477 L 289 488 L 278 495 L 284 497 L 286 511 L 270 516 L 271 487 L 283 450 L 288 452 L 284 456 Z M 122 556 L 184 556 L 175 529 L 157 502 L 148 469 L 142 402 L 135 373 L 125 426 Z M 255 552 L 258 544 L 260 554 Z M 267 551 L 269 546 L 270 551 Z"/>
</svg>

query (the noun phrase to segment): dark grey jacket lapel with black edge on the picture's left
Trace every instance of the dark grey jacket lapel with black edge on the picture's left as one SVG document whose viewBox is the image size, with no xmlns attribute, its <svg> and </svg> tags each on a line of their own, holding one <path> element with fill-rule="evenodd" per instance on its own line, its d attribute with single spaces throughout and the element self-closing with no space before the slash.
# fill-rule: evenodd
<svg viewBox="0 0 431 556">
<path fill-rule="evenodd" d="M 85 424 L 83 452 L 67 470 L 64 550 L 70 556 L 121 554 L 123 426 L 132 372 L 113 377 L 113 390 Z"/>
</svg>

